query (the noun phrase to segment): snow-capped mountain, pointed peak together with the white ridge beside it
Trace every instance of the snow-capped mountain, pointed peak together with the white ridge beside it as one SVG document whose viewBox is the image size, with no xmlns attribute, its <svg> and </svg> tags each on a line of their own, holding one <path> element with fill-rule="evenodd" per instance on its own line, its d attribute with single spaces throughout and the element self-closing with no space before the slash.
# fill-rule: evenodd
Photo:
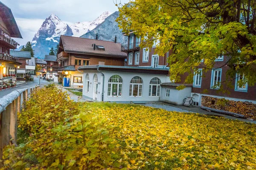
<svg viewBox="0 0 256 170">
<path fill-rule="evenodd" d="M 55 14 L 51 14 L 44 21 L 32 40 L 35 57 L 44 58 L 44 55 L 49 54 L 52 47 L 55 49 L 61 35 L 80 37 L 102 23 L 109 15 L 109 12 L 104 12 L 94 21 L 79 22 L 69 26 Z M 21 48 L 22 45 L 20 46 Z"/>
</svg>

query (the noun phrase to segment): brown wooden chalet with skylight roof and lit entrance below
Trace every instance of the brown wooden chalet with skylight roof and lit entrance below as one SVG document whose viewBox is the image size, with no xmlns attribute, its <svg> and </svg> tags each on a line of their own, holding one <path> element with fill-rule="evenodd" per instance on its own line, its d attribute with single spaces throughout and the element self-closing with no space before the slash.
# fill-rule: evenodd
<svg viewBox="0 0 256 170">
<path fill-rule="evenodd" d="M 115 65 L 124 66 L 126 54 L 121 44 L 117 42 L 86 39 L 61 35 L 57 61 L 59 83 L 68 87 L 82 87 L 83 73 L 79 66 L 86 65 Z"/>
</svg>

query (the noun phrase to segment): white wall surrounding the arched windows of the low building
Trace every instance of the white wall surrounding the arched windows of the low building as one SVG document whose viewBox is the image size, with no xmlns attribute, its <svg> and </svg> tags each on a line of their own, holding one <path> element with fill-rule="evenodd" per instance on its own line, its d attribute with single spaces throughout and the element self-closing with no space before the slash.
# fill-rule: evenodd
<svg viewBox="0 0 256 170">
<path fill-rule="evenodd" d="M 86 74 L 89 74 L 90 78 L 90 87 L 89 92 L 87 93 L 85 91 L 85 82 L 83 85 L 83 96 L 85 96 L 88 99 L 93 99 L 93 77 L 94 74 L 97 74 L 98 76 L 98 82 L 100 84 L 98 85 L 98 94 L 97 94 L 97 101 L 102 100 L 102 86 L 103 86 L 103 76 L 98 71 L 84 71 L 83 79 L 85 80 Z M 161 82 L 170 82 L 169 77 L 166 77 L 166 75 L 159 75 L 159 74 L 143 74 L 143 73 L 128 73 L 128 72 L 117 72 L 117 71 L 102 71 L 102 73 L 105 75 L 105 85 L 104 85 L 104 99 L 103 101 L 110 101 L 110 102 L 131 102 L 131 101 L 158 101 L 160 97 L 156 96 L 148 96 L 149 91 L 149 83 L 150 80 L 154 77 L 158 77 Z M 122 96 L 108 96 L 108 80 L 113 75 L 119 75 L 122 77 L 123 84 L 122 84 Z M 133 77 L 139 76 L 143 79 L 143 88 L 142 88 L 142 96 L 129 96 L 129 89 L 130 89 L 130 81 Z M 160 94 L 161 94 L 161 88 L 160 88 Z"/>
</svg>

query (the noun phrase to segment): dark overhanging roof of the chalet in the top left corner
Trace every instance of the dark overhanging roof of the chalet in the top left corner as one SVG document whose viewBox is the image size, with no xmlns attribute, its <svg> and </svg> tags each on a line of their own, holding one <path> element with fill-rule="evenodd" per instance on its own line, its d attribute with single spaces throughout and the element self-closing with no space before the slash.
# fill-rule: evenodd
<svg viewBox="0 0 256 170">
<path fill-rule="evenodd" d="M 4 5 L 2 2 L 0 2 L 0 17 L 6 24 L 8 31 L 11 34 L 11 37 L 22 38 L 11 9 L 8 8 L 8 6 Z"/>
</svg>

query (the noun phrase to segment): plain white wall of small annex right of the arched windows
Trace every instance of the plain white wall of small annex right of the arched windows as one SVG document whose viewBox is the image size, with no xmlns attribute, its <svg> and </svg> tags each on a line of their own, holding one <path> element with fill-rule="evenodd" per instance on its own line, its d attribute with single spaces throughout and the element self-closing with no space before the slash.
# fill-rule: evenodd
<svg viewBox="0 0 256 170">
<path fill-rule="evenodd" d="M 166 97 L 166 89 L 170 89 L 169 97 Z M 186 87 L 180 91 L 177 90 L 176 88 L 162 87 L 160 100 L 168 101 L 175 105 L 183 105 L 183 99 L 185 99 L 186 96 L 190 96 L 190 94 L 191 94 L 191 87 Z"/>
</svg>

